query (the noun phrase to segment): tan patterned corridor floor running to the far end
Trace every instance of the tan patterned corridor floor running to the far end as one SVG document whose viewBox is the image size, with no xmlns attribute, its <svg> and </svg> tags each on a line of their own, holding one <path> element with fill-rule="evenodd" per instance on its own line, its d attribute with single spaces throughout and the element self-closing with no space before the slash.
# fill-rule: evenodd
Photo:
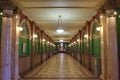
<svg viewBox="0 0 120 80">
<path fill-rule="evenodd" d="M 38 66 L 21 80 L 100 80 L 70 55 L 60 53 Z"/>
</svg>

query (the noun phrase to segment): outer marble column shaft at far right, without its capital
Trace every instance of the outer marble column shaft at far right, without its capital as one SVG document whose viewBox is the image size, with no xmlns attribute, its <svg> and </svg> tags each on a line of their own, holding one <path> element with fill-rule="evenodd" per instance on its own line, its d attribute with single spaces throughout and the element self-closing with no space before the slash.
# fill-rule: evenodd
<svg viewBox="0 0 120 80">
<path fill-rule="evenodd" d="M 108 78 L 109 80 L 119 80 L 116 17 L 108 17 L 107 26 Z"/>
</svg>

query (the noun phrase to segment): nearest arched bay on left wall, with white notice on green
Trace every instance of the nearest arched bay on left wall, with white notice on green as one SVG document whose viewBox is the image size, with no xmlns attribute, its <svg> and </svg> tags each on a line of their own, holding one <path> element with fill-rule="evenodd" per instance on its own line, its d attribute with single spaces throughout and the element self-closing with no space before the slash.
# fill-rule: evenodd
<svg viewBox="0 0 120 80">
<path fill-rule="evenodd" d="M 30 55 L 31 55 L 31 31 L 30 23 L 27 19 L 20 22 L 20 27 L 23 29 L 19 32 L 19 73 L 20 76 L 24 75 L 31 68 Z"/>
</svg>

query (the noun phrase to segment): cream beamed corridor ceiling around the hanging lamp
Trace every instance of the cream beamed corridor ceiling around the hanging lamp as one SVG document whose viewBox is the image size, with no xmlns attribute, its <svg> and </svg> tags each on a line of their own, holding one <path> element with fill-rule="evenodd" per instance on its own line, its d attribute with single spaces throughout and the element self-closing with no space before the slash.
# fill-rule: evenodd
<svg viewBox="0 0 120 80">
<path fill-rule="evenodd" d="M 54 41 L 69 41 L 89 21 L 105 0 L 13 0 Z M 58 16 L 65 32 L 58 34 Z"/>
</svg>

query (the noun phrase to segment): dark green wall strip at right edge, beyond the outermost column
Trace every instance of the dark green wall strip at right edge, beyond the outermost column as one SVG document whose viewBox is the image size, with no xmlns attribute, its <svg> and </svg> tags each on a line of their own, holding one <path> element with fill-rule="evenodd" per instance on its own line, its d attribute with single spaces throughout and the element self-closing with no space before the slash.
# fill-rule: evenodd
<svg viewBox="0 0 120 80">
<path fill-rule="evenodd" d="M 118 14 L 120 14 L 120 9 L 117 9 Z M 116 18 L 117 24 L 117 43 L 118 43 L 118 56 L 120 58 L 120 18 L 117 16 Z"/>
</svg>

